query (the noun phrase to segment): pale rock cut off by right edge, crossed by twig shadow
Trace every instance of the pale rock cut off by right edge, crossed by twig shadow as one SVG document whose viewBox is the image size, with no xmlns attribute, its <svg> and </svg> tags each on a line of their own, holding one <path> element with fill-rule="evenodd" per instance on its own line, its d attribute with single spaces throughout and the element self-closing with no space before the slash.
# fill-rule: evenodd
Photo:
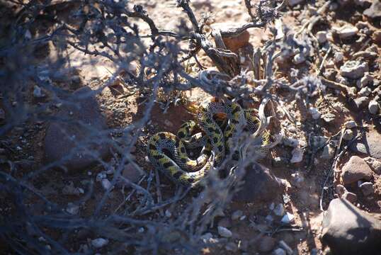
<svg viewBox="0 0 381 255">
<path fill-rule="evenodd" d="M 351 150 L 357 153 L 368 154 L 370 157 L 381 159 L 381 134 L 377 130 L 366 132 L 360 140 L 353 142 Z"/>
</svg>

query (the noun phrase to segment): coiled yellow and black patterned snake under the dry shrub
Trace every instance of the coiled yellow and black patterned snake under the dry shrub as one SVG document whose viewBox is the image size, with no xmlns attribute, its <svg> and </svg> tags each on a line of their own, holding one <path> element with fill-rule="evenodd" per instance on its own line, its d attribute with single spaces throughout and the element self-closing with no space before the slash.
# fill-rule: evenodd
<svg viewBox="0 0 381 255">
<path fill-rule="evenodd" d="M 220 126 L 213 118 L 219 114 L 226 116 L 225 125 Z M 224 102 L 215 98 L 200 103 L 196 118 L 197 123 L 194 120 L 183 123 L 177 135 L 158 132 L 147 142 L 147 155 L 151 164 L 169 179 L 184 186 L 196 186 L 213 165 L 222 163 L 232 148 L 232 140 L 239 128 L 255 132 L 259 125 L 258 118 L 250 109 L 244 110 L 237 102 Z M 203 132 L 192 135 L 197 126 Z M 262 145 L 268 145 L 270 136 L 268 130 L 263 132 Z M 200 156 L 191 159 L 187 151 L 201 146 Z"/>
</svg>

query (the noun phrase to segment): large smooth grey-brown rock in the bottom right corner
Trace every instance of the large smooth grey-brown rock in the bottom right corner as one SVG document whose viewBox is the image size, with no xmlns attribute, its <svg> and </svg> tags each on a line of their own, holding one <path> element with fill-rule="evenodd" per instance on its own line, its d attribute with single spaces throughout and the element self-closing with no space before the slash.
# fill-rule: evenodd
<svg viewBox="0 0 381 255">
<path fill-rule="evenodd" d="M 381 222 L 345 199 L 331 200 L 322 242 L 333 254 L 381 254 Z"/>
</svg>

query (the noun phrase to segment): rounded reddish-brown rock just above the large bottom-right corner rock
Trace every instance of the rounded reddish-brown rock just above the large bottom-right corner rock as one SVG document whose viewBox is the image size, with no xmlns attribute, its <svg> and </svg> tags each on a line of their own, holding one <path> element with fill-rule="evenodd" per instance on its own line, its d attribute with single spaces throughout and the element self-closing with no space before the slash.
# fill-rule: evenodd
<svg viewBox="0 0 381 255">
<path fill-rule="evenodd" d="M 355 183 L 361 179 L 369 181 L 372 177 L 372 169 L 370 169 L 364 159 L 361 159 L 358 156 L 352 156 L 343 166 L 341 172 L 341 179 L 343 179 L 344 185 Z"/>
</svg>

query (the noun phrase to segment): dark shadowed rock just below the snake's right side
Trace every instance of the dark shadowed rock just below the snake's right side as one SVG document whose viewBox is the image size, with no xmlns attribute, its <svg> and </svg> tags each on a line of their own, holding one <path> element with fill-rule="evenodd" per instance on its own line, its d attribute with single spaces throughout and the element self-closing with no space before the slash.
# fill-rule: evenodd
<svg viewBox="0 0 381 255">
<path fill-rule="evenodd" d="M 282 181 L 274 176 L 270 169 L 258 163 L 255 163 L 252 169 L 246 169 L 242 180 L 244 180 L 244 184 L 233 198 L 237 202 L 270 202 L 283 193 Z"/>
</svg>

